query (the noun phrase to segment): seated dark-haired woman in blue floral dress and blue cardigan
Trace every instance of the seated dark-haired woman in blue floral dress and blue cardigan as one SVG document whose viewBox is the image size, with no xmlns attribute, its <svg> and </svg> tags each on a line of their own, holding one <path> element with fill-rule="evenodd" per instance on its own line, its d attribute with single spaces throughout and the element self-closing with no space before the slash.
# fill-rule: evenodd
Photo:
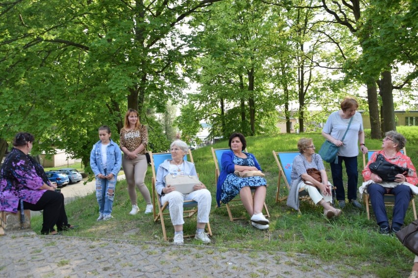
<svg viewBox="0 0 418 278">
<path fill-rule="evenodd" d="M 236 195 L 240 195 L 241 202 L 251 216 L 251 224 L 260 230 L 268 229 L 269 221 L 264 217 L 264 205 L 267 181 L 261 176 L 241 177 L 235 171 L 260 171 L 260 164 L 253 154 L 244 153 L 247 146 L 245 137 L 234 133 L 229 138 L 231 151 L 224 152 L 221 158 L 222 171 L 218 179 L 216 202 L 227 204 Z M 238 173 L 239 174 L 239 173 Z M 254 198 L 251 189 L 255 189 Z"/>
</svg>

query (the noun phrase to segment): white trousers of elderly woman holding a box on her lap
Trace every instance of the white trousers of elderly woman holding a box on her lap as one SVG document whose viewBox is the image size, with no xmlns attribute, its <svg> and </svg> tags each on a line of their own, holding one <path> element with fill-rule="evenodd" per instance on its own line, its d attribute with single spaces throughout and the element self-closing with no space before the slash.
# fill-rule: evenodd
<svg viewBox="0 0 418 278">
<path fill-rule="evenodd" d="M 208 223 L 212 196 L 208 189 L 199 189 L 188 194 L 171 191 L 161 196 L 161 203 L 168 201 L 171 222 L 173 225 L 183 225 L 183 201 L 197 202 L 197 223 Z"/>
</svg>

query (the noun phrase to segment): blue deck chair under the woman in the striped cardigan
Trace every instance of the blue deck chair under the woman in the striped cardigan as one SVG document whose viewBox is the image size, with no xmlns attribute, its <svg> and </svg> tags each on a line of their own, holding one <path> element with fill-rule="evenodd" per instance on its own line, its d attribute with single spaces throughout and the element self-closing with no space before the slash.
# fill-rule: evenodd
<svg viewBox="0 0 418 278">
<path fill-rule="evenodd" d="M 287 190 L 290 191 L 290 173 L 292 172 L 293 160 L 300 152 L 275 152 L 273 151 L 274 159 L 276 160 L 277 167 L 279 167 L 279 179 L 277 180 L 277 191 L 276 191 L 276 203 L 282 202 L 287 199 L 288 196 L 283 197 L 279 200 L 280 196 L 280 184 L 285 183 Z M 279 161 L 280 159 L 280 161 Z M 282 163 L 281 163 L 282 162 Z M 284 167 L 282 167 L 282 164 Z M 311 200 L 308 193 L 304 188 L 299 190 L 299 200 L 306 201 Z"/>
</svg>

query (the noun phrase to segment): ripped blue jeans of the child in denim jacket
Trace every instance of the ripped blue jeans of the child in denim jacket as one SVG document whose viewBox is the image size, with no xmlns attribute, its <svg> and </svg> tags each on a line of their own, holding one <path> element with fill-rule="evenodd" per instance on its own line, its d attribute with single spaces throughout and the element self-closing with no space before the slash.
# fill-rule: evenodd
<svg viewBox="0 0 418 278">
<path fill-rule="evenodd" d="M 106 169 L 103 169 L 103 171 L 103 175 L 106 176 Z M 96 177 L 96 198 L 97 203 L 99 203 L 99 212 L 103 213 L 103 215 L 112 213 L 116 179 L 116 176 L 114 176 L 110 181 Z"/>
</svg>

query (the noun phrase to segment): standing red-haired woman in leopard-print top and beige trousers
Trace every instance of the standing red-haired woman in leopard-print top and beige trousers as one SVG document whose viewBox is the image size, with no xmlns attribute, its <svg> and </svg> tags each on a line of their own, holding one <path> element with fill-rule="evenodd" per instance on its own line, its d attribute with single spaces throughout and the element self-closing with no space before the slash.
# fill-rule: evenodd
<svg viewBox="0 0 418 278">
<path fill-rule="evenodd" d="M 120 147 L 124 153 L 122 167 L 128 182 L 128 193 L 131 199 L 132 210 L 129 214 L 138 213 L 135 185 L 138 187 L 147 203 L 145 213 L 153 211 L 150 190 L 144 183 L 148 163 L 145 156 L 148 144 L 148 130 L 139 122 L 139 114 L 136 110 L 128 109 L 125 114 L 124 128 L 120 133 Z"/>
</svg>

